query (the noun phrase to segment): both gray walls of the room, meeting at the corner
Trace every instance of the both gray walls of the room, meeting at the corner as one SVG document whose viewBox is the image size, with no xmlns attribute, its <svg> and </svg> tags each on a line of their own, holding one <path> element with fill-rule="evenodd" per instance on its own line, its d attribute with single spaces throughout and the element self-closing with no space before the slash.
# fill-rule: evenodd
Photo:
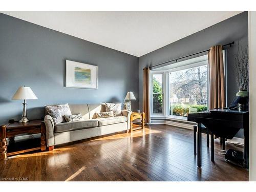
<svg viewBox="0 0 256 192">
<path fill-rule="evenodd" d="M 0 124 L 21 118 L 22 101 L 11 98 L 23 85 L 38 97 L 27 101 L 30 119 L 44 116 L 45 104 L 123 102 L 127 91 L 133 91 L 137 98 L 132 109 L 142 110 L 144 67 L 235 41 L 226 47 L 229 105 L 238 91 L 233 54 L 238 41 L 244 48 L 248 44 L 247 12 L 139 58 L 2 13 L 0 24 Z M 98 89 L 66 88 L 66 59 L 98 66 Z"/>
</svg>

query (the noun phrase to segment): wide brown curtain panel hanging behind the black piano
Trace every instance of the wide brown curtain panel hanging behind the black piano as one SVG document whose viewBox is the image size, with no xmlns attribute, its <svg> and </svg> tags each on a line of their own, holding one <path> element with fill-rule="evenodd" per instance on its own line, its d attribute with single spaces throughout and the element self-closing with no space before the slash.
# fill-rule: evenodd
<svg viewBox="0 0 256 192">
<path fill-rule="evenodd" d="M 209 60 L 209 109 L 225 107 L 225 76 L 222 46 L 212 46 Z"/>
</svg>

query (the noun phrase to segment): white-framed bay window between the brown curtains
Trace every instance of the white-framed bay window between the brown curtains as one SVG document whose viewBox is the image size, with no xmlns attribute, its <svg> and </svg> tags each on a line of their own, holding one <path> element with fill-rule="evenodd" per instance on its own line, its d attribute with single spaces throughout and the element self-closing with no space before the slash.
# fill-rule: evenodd
<svg viewBox="0 0 256 192">
<path fill-rule="evenodd" d="M 223 50 L 226 79 L 226 54 Z M 151 70 L 151 116 L 186 119 L 208 109 L 208 56 Z"/>
</svg>

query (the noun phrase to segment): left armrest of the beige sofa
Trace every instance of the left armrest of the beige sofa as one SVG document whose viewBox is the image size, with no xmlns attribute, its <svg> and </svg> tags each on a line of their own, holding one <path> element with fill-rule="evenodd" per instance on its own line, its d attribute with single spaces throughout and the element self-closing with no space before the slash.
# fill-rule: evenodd
<svg viewBox="0 0 256 192">
<path fill-rule="evenodd" d="M 47 146 L 54 145 L 54 122 L 50 115 L 45 116 Z"/>
</svg>

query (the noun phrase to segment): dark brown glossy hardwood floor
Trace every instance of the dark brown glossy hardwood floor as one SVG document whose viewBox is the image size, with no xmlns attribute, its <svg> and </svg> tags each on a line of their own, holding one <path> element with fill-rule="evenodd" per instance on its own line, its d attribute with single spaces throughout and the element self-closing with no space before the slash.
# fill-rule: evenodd
<svg viewBox="0 0 256 192">
<path fill-rule="evenodd" d="M 193 151 L 193 131 L 152 124 L 144 131 L 116 133 L 56 146 L 53 152 L 17 155 L 0 161 L 0 178 L 29 181 L 248 181 L 246 169 L 218 155 L 210 161 L 206 137 L 202 168 Z M 226 148 L 235 148 L 228 144 Z"/>
</svg>

